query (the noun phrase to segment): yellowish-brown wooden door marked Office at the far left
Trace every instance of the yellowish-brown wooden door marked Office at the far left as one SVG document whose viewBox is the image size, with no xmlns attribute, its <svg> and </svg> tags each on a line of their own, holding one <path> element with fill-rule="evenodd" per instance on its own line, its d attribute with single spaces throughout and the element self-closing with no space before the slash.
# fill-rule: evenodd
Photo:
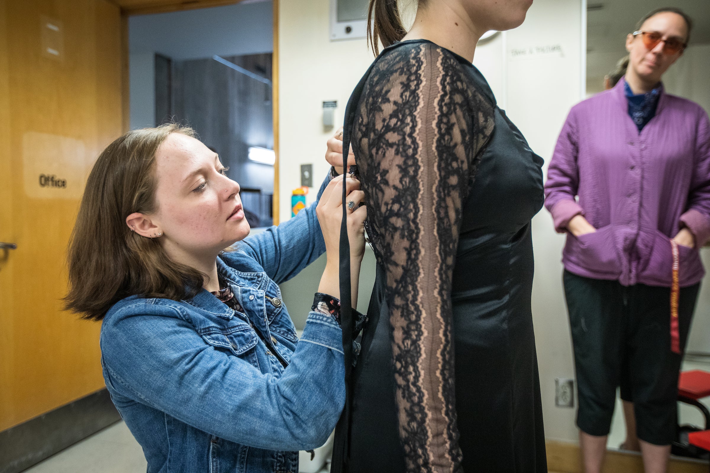
<svg viewBox="0 0 710 473">
<path fill-rule="evenodd" d="M 0 0 L 0 430 L 102 389 L 98 323 L 62 311 L 84 182 L 121 134 L 121 12 Z"/>
</svg>

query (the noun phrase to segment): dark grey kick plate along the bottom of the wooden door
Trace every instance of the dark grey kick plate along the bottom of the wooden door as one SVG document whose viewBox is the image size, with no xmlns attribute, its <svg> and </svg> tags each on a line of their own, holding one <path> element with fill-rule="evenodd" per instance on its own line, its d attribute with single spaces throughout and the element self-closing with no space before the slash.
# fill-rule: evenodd
<svg viewBox="0 0 710 473">
<path fill-rule="evenodd" d="M 121 420 L 101 389 L 0 432 L 0 473 L 18 473 Z"/>
</svg>

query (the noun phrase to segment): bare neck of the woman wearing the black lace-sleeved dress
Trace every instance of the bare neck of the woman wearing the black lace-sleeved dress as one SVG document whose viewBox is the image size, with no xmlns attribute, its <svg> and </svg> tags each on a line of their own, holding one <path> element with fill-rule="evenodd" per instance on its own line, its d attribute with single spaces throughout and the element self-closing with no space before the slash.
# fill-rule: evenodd
<svg viewBox="0 0 710 473">
<path fill-rule="evenodd" d="M 403 40 L 430 40 L 472 61 L 476 43 L 486 31 L 474 25 L 463 6 L 456 2 L 437 2 L 437 8 L 417 10 L 409 33 Z"/>
</svg>

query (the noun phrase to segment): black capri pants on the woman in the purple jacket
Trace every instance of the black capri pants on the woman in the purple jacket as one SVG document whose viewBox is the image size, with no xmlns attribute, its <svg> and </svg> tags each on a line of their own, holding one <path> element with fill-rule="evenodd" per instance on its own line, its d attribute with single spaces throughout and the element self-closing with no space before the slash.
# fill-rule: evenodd
<svg viewBox="0 0 710 473">
<path fill-rule="evenodd" d="M 678 355 L 670 350 L 670 288 L 622 286 L 568 271 L 562 279 L 577 369 L 577 427 L 608 435 L 621 386 L 621 399 L 634 403 L 638 438 L 670 445 L 680 364 L 700 284 L 680 289 Z"/>
</svg>

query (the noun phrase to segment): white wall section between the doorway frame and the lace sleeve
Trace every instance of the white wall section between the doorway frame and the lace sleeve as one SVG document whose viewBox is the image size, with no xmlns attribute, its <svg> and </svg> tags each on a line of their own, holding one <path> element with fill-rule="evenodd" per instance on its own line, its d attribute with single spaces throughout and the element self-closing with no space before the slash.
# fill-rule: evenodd
<svg viewBox="0 0 710 473">
<path fill-rule="evenodd" d="M 322 126 L 323 101 L 338 101 L 335 123 L 342 123 L 350 93 L 373 55 L 364 39 L 329 40 L 329 0 L 280 1 L 278 24 L 279 215 L 285 221 L 291 191 L 300 186 L 300 165 L 313 164 L 314 186 L 329 169 L 325 142 L 334 130 Z M 313 192 L 307 201 L 312 199 Z"/>
</svg>

